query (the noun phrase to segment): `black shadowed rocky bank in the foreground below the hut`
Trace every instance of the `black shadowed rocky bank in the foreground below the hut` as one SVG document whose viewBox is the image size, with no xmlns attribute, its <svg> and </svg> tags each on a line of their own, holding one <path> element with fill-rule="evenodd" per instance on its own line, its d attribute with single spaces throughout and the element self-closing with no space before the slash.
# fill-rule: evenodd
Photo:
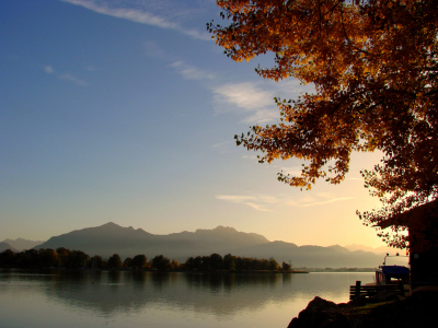
<svg viewBox="0 0 438 328">
<path fill-rule="evenodd" d="M 418 292 L 405 298 L 385 293 L 368 300 L 358 297 L 346 304 L 316 296 L 288 328 L 435 328 L 437 304 L 437 292 Z"/>
</svg>

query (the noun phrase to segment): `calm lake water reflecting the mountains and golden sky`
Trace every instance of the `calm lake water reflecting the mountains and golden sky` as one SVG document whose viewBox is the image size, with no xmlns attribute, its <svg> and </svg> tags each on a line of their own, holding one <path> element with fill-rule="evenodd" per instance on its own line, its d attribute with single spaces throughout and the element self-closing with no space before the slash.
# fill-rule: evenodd
<svg viewBox="0 0 438 328">
<path fill-rule="evenodd" d="M 0 271 L 0 327 L 283 327 L 366 273 Z"/>
</svg>

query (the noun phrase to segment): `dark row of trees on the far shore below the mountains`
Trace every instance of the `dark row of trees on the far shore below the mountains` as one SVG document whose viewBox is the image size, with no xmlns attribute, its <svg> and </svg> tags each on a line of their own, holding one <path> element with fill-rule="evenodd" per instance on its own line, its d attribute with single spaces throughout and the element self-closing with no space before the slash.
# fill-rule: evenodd
<svg viewBox="0 0 438 328">
<path fill-rule="evenodd" d="M 110 270 L 159 270 L 159 271 L 278 271 L 278 272 L 304 272 L 292 270 L 290 263 L 285 261 L 279 265 L 273 257 L 257 259 L 233 256 L 227 254 L 211 254 L 210 256 L 188 257 L 184 263 L 175 259 L 170 260 L 163 255 L 157 255 L 152 259 L 142 255 L 127 257 L 122 260 L 118 254 L 104 259 L 95 255 L 90 257 L 82 250 L 70 250 L 65 247 L 57 249 L 27 249 L 14 253 L 5 249 L 0 253 L 0 268 L 18 269 L 110 269 Z"/>
</svg>

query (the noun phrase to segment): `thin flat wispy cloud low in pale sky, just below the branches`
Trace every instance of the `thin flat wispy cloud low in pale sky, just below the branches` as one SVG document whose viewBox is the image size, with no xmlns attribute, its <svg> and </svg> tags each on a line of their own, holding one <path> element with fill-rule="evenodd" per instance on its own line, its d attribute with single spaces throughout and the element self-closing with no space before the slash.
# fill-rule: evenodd
<svg viewBox="0 0 438 328">
<path fill-rule="evenodd" d="M 322 198 L 322 199 L 321 199 Z M 313 206 L 324 206 L 338 201 L 346 201 L 354 199 L 354 197 L 333 197 L 330 194 L 318 194 L 315 197 L 302 197 L 300 199 L 291 199 L 290 196 L 266 196 L 266 195 L 252 195 L 252 196 L 241 196 L 241 195 L 217 195 L 216 199 L 241 203 L 257 211 L 274 211 L 274 206 L 286 206 L 286 207 L 313 207 Z"/>
</svg>

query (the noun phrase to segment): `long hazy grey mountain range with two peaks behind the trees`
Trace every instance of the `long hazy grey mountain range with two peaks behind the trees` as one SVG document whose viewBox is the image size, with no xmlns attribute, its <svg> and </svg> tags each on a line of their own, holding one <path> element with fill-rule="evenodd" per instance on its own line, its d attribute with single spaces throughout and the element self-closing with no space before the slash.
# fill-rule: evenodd
<svg viewBox="0 0 438 328">
<path fill-rule="evenodd" d="M 238 232 L 226 226 L 154 235 L 141 229 L 123 227 L 112 222 L 54 236 L 35 248 L 58 247 L 83 250 L 90 256 L 101 255 L 104 258 L 113 254 L 118 254 L 122 258 L 145 254 L 149 259 L 164 255 L 183 262 L 191 256 L 214 253 L 222 256 L 232 254 L 254 258 L 274 257 L 279 263 L 291 261 L 293 267 L 308 268 L 373 268 L 382 263 L 384 256 L 364 250 L 351 251 L 338 245 L 297 246 L 293 243 L 269 242 L 260 234 Z"/>
</svg>

